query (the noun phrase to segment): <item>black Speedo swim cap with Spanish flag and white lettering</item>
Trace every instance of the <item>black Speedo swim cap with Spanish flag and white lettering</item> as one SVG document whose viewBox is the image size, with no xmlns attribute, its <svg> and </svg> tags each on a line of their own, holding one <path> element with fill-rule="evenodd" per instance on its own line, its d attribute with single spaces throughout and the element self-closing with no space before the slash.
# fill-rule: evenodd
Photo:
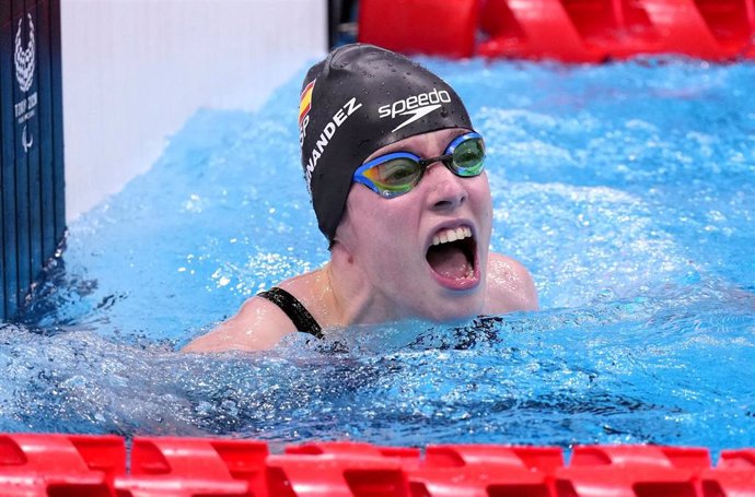
<svg viewBox="0 0 755 497">
<path fill-rule="evenodd" d="M 417 62 L 373 45 L 333 50 L 302 85 L 299 141 L 320 229 L 333 244 L 353 171 L 374 151 L 415 134 L 472 130 L 456 92 Z"/>
</svg>

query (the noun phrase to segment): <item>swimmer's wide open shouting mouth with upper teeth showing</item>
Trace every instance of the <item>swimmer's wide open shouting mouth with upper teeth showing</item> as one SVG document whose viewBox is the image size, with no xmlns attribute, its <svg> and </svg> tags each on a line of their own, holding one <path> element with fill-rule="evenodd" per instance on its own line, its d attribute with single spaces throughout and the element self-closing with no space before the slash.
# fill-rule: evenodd
<svg viewBox="0 0 755 497">
<path fill-rule="evenodd" d="M 479 281 L 477 241 L 468 226 L 444 228 L 432 237 L 426 258 L 435 279 L 454 289 L 475 286 Z"/>
</svg>

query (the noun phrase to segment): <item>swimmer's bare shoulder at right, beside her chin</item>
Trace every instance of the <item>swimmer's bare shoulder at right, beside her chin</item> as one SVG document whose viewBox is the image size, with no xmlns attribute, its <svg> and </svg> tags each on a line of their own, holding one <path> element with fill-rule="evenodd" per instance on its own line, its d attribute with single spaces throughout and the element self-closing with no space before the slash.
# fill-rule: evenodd
<svg viewBox="0 0 755 497">
<path fill-rule="evenodd" d="M 486 313 L 537 310 L 537 289 L 530 271 L 515 259 L 490 252 Z"/>
</svg>

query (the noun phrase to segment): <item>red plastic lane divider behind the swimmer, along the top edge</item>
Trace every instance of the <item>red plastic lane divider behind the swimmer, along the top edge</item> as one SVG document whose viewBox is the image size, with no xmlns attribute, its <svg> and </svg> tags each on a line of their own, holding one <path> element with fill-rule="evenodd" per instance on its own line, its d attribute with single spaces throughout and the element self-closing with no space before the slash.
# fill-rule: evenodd
<svg viewBox="0 0 755 497">
<path fill-rule="evenodd" d="M 360 9 L 360 42 L 409 54 L 564 62 L 755 57 L 755 0 L 361 0 Z"/>
</svg>

